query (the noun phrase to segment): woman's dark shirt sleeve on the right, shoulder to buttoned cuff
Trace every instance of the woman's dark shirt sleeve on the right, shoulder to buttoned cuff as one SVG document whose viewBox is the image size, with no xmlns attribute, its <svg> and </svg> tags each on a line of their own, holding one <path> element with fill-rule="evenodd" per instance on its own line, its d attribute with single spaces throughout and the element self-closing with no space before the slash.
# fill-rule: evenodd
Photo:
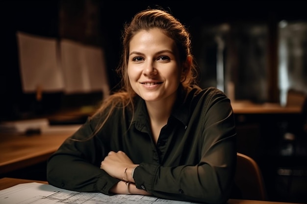
<svg viewBox="0 0 307 204">
<path fill-rule="evenodd" d="M 200 142 L 195 142 L 195 148 L 189 152 L 181 153 L 200 159 L 179 166 L 141 163 L 134 171 L 137 188 L 164 199 L 207 204 L 227 202 L 236 166 L 233 112 L 230 100 L 220 91 L 210 94 L 203 103 L 200 110 L 194 110 L 201 113 L 200 117 L 191 117 L 186 132 L 195 134 L 192 129 L 200 129 L 199 136 L 191 136 Z M 197 145 L 201 147 L 196 148 Z"/>
</svg>

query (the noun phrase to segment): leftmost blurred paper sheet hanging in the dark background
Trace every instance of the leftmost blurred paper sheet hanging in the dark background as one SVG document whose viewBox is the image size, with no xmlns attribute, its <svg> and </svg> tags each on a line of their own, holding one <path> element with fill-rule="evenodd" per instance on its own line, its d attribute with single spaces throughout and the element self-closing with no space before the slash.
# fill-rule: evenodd
<svg viewBox="0 0 307 204">
<path fill-rule="evenodd" d="M 58 65 L 57 41 L 17 32 L 19 63 L 24 92 L 61 91 L 63 74 Z"/>
</svg>

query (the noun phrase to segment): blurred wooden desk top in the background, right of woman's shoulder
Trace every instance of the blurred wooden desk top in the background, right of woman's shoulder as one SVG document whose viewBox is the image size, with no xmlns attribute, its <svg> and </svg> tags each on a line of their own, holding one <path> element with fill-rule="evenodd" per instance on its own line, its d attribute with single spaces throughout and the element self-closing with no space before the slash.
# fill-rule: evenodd
<svg viewBox="0 0 307 204">
<path fill-rule="evenodd" d="M 255 104 L 248 101 L 231 102 L 233 113 L 235 114 L 298 114 L 302 107 L 290 106 L 283 107 L 278 103 Z"/>
</svg>

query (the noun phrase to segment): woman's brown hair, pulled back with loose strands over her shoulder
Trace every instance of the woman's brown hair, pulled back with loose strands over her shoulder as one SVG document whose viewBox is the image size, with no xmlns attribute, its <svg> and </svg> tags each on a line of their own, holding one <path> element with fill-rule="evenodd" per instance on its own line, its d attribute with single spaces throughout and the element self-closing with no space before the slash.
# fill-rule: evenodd
<svg viewBox="0 0 307 204">
<path fill-rule="evenodd" d="M 196 85 L 197 69 L 193 55 L 191 54 L 191 40 L 190 33 L 183 24 L 179 22 L 173 15 L 161 8 L 140 11 L 132 18 L 130 23 L 125 23 L 122 32 L 123 50 L 119 67 L 116 69 L 117 74 L 121 77 L 121 88 L 119 91 L 109 95 L 102 101 L 100 108 L 93 115 L 105 112 L 100 127 L 96 130 L 98 132 L 104 125 L 108 117 L 115 108 L 129 107 L 133 111 L 133 97 L 136 93 L 130 86 L 128 79 L 128 58 L 129 58 L 129 44 L 131 39 L 141 30 L 150 30 L 153 28 L 160 29 L 165 35 L 172 38 L 179 50 L 179 60 L 184 63 L 187 57 L 191 59 L 191 67 L 188 71 L 183 72 L 185 75 L 181 80 L 181 85 L 184 90 L 190 90 L 192 85 Z M 124 114 L 124 109 L 123 109 Z M 133 114 L 132 114 L 133 115 Z M 132 121 L 132 120 L 131 120 Z M 95 132 L 95 133 L 96 133 Z M 95 134 L 94 133 L 94 134 Z"/>
</svg>

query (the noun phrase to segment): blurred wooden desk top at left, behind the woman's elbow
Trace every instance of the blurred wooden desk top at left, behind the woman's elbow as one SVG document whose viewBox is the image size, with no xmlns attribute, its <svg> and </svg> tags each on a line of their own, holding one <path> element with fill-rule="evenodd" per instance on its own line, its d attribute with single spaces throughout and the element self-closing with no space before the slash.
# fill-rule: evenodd
<svg viewBox="0 0 307 204">
<path fill-rule="evenodd" d="M 0 134 L 0 174 L 46 161 L 76 131 L 50 131 L 41 135 Z"/>
</svg>

